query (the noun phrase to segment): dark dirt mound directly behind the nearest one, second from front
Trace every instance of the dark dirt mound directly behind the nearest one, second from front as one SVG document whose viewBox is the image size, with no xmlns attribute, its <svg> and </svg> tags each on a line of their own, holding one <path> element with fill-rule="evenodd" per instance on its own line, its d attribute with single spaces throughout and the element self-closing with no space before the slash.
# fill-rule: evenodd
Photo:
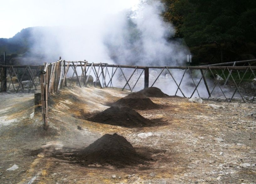
<svg viewBox="0 0 256 184">
<path fill-rule="evenodd" d="M 141 127 L 152 124 L 149 119 L 142 117 L 135 110 L 122 106 L 111 106 L 88 120 L 123 127 Z"/>
</svg>

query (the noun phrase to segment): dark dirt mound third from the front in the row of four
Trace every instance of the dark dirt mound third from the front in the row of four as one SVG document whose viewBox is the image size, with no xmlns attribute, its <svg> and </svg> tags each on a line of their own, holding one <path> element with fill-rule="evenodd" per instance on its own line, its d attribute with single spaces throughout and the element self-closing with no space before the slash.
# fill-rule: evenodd
<svg viewBox="0 0 256 184">
<path fill-rule="evenodd" d="M 131 93 L 116 102 L 107 105 L 126 106 L 140 110 L 159 108 L 159 105 L 153 103 L 148 97 L 141 93 Z"/>
</svg>

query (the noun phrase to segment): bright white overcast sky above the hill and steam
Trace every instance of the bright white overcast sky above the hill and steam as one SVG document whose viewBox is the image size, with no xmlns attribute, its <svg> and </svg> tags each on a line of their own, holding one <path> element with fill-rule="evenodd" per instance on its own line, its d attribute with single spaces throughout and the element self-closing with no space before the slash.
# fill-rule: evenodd
<svg viewBox="0 0 256 184">
<path fill-rule="evenodd" d="M 0 38 L 33 26 L 79 26 L 135 8 L 139 0 L 0 0 Z M 83 21 L 81 21 L 81 19 Z"/>
</svg>

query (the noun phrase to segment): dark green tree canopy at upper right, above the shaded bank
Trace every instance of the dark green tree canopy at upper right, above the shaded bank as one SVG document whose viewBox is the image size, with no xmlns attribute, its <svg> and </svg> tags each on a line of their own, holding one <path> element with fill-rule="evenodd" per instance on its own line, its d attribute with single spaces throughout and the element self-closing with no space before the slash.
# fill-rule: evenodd
<svg viewBox="0 0 256 184">
<path fill-rule="evenodd" d="M 256 41 L 256 1 L 162 0 L 163 17 L 189 46 Z"/>
</svg>

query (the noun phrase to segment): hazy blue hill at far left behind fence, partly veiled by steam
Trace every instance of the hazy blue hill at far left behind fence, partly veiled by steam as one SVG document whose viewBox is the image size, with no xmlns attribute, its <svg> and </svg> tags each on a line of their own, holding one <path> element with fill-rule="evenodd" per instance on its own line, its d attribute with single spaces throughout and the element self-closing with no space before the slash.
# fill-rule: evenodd
<svg viewBox="0 0 256 184">
<path fill-rule="evenodd" d="M 0 65 L 3 63 L 3 52 L 7 54 L 8 64 L 35 64 L 45 62 L 45 54 L 40 49 L 41 41 L 47 31 L 56 27 L 30 27 L 22 29 L 12 38 L 0 38 Z M 55 43 L 55 40 L 52 41 Z M 56 54 L 53 58 L 58 58 Z M 52 58 L 48 58 L 52 60 Z"/>
</svg>

